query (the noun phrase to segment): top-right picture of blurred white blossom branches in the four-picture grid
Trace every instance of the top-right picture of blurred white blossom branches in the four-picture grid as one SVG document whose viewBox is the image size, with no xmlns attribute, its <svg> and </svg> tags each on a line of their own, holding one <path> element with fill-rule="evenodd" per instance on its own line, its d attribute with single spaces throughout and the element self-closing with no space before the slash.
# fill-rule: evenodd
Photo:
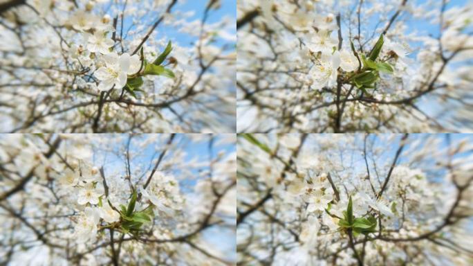
<svg viewBox="0 0 473 266">
<path fill-rule="evenodd" d="M 237 131 L 472 132 L 472 16 L 465 0 L 238 1 Z M 355 86 L 380 36 L 387 69 Z"/>
</svg>

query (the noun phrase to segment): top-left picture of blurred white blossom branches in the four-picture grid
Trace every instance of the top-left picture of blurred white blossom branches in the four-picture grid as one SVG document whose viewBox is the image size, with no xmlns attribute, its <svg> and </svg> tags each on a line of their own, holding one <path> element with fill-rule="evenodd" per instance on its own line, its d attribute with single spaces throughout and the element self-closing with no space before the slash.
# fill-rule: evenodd
<svg viewBox="0 0 473 266">
<path fill-rule="evenodd" d="M 234 132 L 235 10 L 236 0 L 3 1 L 0 131 Z"/>
</svg>

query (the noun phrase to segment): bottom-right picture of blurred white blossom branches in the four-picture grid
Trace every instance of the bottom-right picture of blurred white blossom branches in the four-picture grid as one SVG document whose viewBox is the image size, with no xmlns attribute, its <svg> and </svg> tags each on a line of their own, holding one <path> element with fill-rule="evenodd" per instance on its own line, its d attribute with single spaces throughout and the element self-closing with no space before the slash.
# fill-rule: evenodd
<svg viewBox="0 0 473 266">
<path fill-rule="evenodd" d="M 241 134 L 238 264 L 471 265 L 472 160 L 470 134 Z"/>
</svg>

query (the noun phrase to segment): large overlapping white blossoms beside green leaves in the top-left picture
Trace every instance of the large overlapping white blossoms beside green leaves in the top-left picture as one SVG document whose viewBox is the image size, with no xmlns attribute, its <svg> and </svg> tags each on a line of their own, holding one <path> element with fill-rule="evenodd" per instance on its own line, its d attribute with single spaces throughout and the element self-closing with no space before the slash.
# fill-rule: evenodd
<svg viewBox="0 0 473 266">
<path fill-rule="evenodd" d="M 115 85 L 115 89 L 121 89 L 127 84 L 127 74 L 134 74 L 140 69 L 140 57 L 130 56 L 124 53 L 118 56 L 117 53 L 104 55 L 105 67 L 100 67 L 94 75 L 101 80 L 98 89 L 100 91 L 109 90 Z"/>
</svg>

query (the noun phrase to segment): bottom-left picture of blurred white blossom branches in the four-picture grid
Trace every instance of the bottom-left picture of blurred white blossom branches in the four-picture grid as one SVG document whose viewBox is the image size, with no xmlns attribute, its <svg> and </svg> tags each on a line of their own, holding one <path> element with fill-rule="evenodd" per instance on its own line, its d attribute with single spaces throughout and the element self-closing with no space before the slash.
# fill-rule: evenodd
<svg viewBox="0 0 473 266">
<path fill-rule="evenodd" d="M 232 264 L 235 141 L 232 134 L 1 135 L 1 264 Z M 133 190 L 135 211 L 151 211 L 151 221 L 126 233 L 108 201 L 129 206 Z"/>
</svg>

